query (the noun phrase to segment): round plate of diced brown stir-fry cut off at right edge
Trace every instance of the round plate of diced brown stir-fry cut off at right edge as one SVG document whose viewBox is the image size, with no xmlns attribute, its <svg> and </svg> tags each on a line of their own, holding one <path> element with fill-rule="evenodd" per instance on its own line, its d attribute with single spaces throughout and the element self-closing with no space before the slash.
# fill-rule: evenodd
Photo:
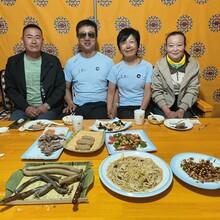
<svg viewBox="0 0 220 220">
<path fill-rule="evenodd" d="M 186 152 L 175 155 L 170 163 L 182 181 L 202 189 L 220 189 L 220 160 L 209 155 Z"/>
</svg>

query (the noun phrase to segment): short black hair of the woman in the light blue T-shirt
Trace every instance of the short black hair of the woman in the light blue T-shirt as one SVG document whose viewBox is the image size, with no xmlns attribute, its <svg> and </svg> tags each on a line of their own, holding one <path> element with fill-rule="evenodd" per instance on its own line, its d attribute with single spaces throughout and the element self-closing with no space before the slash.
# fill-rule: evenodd
<svg viewBox="0 0 220 220">
<path fill-rule="evenodd" d="M 138 47 L 140 46 L 141 37 L 139 31 L 135 30 L 134 28 L 124 28 L 118 33 L 118 37 L 117 37 L 117 45 L 119 50 L 120 50 L 120 43 L 126 41 L 130 35 L 134 36 L 135 40 L 137 41 Z"/>
</svg>

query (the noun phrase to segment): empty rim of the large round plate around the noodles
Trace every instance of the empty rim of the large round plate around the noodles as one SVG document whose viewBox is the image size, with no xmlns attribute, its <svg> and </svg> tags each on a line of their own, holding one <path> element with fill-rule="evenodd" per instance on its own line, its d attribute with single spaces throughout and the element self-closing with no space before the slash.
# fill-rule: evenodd
<svg viewBox="0 0 220 220">
<path fill-rule="evenodd" d="M 151 158 L 163 170 L 163 180 L 157 187 L 155 187 L 152 191 L 149 191 L 149 192 L 132 193 L 132 192 L 127 192 L 127 191 L 120 189 L 107 177 L 106 172 L 107 172 L 107 168 L 109 164 L 121 158 L 122 155 L 124 155 L 125 157 L 135 156 L 135 157 L 142 157 L 142 158 Z M 123 196 L 134 197 L 134 198 L 150 197 L 150 196 L 155 196 L 159 193 L 162 193 L 170 186 L 170 184 L 172 183 L 172 179 L 173 179 L 172 171 L 170 167 L 166 164 L 166 162 L 164 162 L 162 159 L 152 154 L 145 153 L 145 152 L 138 152 L 138 151 L 135 151 L 135 152 L 126 151 L 126 152 L 121 152 L 121 153 L 110 155 L 104 161 L 102 161 L 99 167 L 99 176 L 100 176 L 101 181 L 105 184 L 105 186 L 108 187 L 113 192 L 116 192 Z"/>
</svg>

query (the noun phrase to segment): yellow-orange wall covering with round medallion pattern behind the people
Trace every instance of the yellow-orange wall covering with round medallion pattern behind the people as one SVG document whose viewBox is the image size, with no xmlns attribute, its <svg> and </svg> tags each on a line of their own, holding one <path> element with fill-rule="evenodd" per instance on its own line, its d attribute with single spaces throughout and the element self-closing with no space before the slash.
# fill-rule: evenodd
<svg viewBox="0 0 220 220">
<path fill-rule="evenodd" d="M 153 65 L 164 55 L 166 34 L 180 30 L 186 34 L 188 52 L 201 65 L 200 97 L 220 117 L 220 0 L 96 0 L 95 7 L 94 2 L 1 0 L 0 69 L 9 56 L 23 50 L 21 31 L 28 23 L 41 26 L 44 50 L 58 56 L 63 66 L 77 52 L 75 26 L 81 19 L 97 18 L 99 50 L 115 62 L 121 59 L 116 37 L 124 27 L 139 30 L 139 53 Z"/>
</svg>

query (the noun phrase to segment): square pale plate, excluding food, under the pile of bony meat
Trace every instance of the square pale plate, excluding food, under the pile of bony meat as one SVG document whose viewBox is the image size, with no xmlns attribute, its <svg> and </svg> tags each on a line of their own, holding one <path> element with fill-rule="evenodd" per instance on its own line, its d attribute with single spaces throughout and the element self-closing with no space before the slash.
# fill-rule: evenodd
<svg viewBox="0 0 220 220">
<path fill-rule="evenodd" d="M 70 132 L 68 133 L 68 128 L 62 128 L 62 127 L 54 127 L 54 128 L 45 128 L 46 132 L 47 130 L 55 130 L 55 134 L 64 134 L 66 136 L 70 136 Z M 44 133 L 43 133 L 44 134 Z M 43 135 L 42 134 L 42 135 Z M 41 136 L 41 135 L 40 135 Z M 39 137 L 40 138 L 40 137 Z M 39 139 L 38 138 L 38 139 Z M 59 150 L 53 152 L 50 156 L 46 156 L 43 154 L 38 147 L 38 139 L 28 148 L 28 150 L 21 156 L 22 159 L 36 159 L 36 160 L 54 160 L 57 159 L 60 154 L 63 151 L 63 147 Z"/>
</svg>

